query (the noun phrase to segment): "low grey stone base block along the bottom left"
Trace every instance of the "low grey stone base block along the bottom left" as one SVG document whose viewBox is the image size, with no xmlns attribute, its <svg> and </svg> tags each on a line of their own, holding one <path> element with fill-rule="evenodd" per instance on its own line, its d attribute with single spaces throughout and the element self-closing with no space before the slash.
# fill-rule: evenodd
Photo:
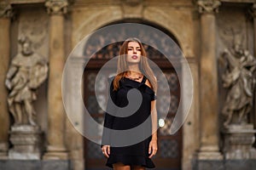
<svg viewBox="0 0 256 170">
<path fill-rule="evenodd" d="M 70 161 L 65 160 L 0 160 L 0 169 L 11 170 L 71 170 Z"/>
</svg>

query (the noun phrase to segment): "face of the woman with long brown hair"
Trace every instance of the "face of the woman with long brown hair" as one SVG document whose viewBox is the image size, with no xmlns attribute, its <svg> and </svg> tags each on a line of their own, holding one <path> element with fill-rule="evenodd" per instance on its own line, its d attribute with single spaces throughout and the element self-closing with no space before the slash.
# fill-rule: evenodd
<svg viewBox="0 0 256 170">
<path fill-rule="evenodd" d="M 139 63 L 142 49 L 138 42 L 128 42 L 126 61 L 131 64 Z"/>
</svg>

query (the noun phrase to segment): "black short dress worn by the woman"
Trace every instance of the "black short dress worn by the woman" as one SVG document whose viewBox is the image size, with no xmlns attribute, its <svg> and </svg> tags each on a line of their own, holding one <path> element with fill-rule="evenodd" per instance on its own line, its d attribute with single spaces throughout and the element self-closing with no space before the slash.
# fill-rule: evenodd
<svg viewBox="0 0 256 170">
<path fill-rule="evenodd" d="M 145 122 L 150 116 L 151 111 L 151 101 L 156 99 L 154 95 L 154 91 L 145 84 L 147 78 L 143 77 L 142 82 L 137 82 L 131 80 L 129 78 L 122 78 L 119 81 L 119 89 L 117 91 L 113 91 L 113 78 L 109 78 L 109 90 L 110 97 L 113 100 L 113 103 L 119 107 L 125 107 L 128 105 L 127 93 L 132 88 L 137 88 L 142 94 L 143 101 L 140 105 L 139 109 L 132 114 L 131 116 L 119 117 L 112 116 L 108 114 L 110 110 L 112 110 L 109 106 L 107 106 L 107 112 L 105 113 L 104 127 L 108 127 L 114 130 L 125 130 L 131 129 L 133 127 L 137 127 L 141 123 Z M 151 122 L 151 116 L 150 122 Z M 152 125 L 149 126 L 151 134 Z M 103 130 L 102 135 L 102 145 L 112 145 L 113 141 L 111 141 L 111 133 L 106 133 L 105 129 Z M 143 134 L 142 134 L 143 135 Z M 129 136 L 127 137 L 129 138 Z M 151 135 L 149 137 L 143 139 L 143 141 L 138 142 L 137 144 L 131 144 L 128 146 L 122 147 L 113 147 L 110 148 L 110 155 L 106 165 L 108 167 L 113 167 L 113 163 L 122 162 L 125 165 L 137 165 L 148 168 L 153 168 L 154 163 L 151 159 L 148 158 L 148 147 L 149 142 L 151 140 Z"/>
</svg>

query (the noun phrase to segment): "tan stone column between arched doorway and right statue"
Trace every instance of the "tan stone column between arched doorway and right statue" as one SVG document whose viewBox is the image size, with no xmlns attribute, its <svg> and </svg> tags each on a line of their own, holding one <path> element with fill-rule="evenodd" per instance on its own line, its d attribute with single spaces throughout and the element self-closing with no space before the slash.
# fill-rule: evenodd
<svg viewBox="0 0 256 170">
<path fill-rule="evenodd" d="M 197 159 L 220 160 L 223 156 L 218 147 L 218 71 L 214 16 L 220 3 L 215 0 L 199 0 L 197 4 L 201 14 L 201 139 Z"/>
</svg>

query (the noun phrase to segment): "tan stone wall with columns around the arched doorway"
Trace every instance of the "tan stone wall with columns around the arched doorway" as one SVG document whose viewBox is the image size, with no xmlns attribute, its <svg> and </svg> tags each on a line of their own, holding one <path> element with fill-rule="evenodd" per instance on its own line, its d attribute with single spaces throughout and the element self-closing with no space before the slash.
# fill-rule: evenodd
<svg viewBox="0 0 256 170">
<path fill-rule="evenodd" d="M 50 3 L 46 5 L 46 2 Z M 4 53 L 1 58 L 3 67 L 0 69 L 0 74 L 6 74 L 10 60 L 20 51 L 18 38 L 21 35 L 30 37 L 35 51 L 50 63 L 50 74 L 53 73 L 53 75 L 50 75 L 48 80 L 38 88 L 38 99 L 34 103 L 38 125 L 44 132 L 42 159 L 45 162 L 48 159 L 59 159 L 66 160 L 65 164 L 67 160 L 71 160 L 73 169 L 84 169 L 84 139 L 75 129 L 75 127 L 84 127 L 82 104 L 76 103 L 75 108 L 67 108 L 78 111 L 81 115 L 75 117 L 77 124 L 73 126 L 61 103 L 60 71 L 68 54 L 85 36 L 103 26 L 115 22 L 137 20 L 140 23 L 150 23 L 164 28 L 172 34 L 189 62 L 194 81 L 194 98 L 189 116 L 183 124 L 182 168 L 185 170 L 206 169 L 208 163 L 212 162 L 217 167 L 223 166 L 224 139 L 220 134 L 223 120 L 220 112 L 224 106 L 227 90 L 222 88 L 221 75 L 224 71 L 218 63 L 218 58 L 224 48 L 232 46 L 233 31 L 236 35 L 243 37 L 243 48 L 251 54 L 256 54 L 254 33 L 256 25 L 253 21 L 255 20 L 255 8 L 253 8 L 255 2 L 253 0 L 246 0 L 242 3 L 239 0 L 205 2 L 192 0 L 65 0 L 64 3 L 56 2 L 10 0 L 8 4 L 11 5 L 14 13 L 7 14 L 6 11 L 9 9 L 1 9 L 6 14 L 0 13 L 0 34 L 3 34 L 0 38 L 2 38 L 1 41 L 9 43 L 7 46 L 0 44 L 0 49 L 3 51 L 0 53 Z M 55 24 L 57 22 L 60 23 L 58 26 Z M 4 37 L 5 33 L 9 37 Z M 82 57 L 82 54 L 77 54 L 77 56 Z M 79 63 L 78 59 L 73 62 L 73 65 L 79 65 Z M 3 88 L 3 76 L 0 77 L 0 82 L 2 86 L 0 108 L 4 112 L 0 112 L 0 122 L 3 122 L 4 126 L 0 129 L 0 159 L 8 160 L 10 148 L 8 138 L 12 119 L 9 118 L 5 104 L 7 90 Z M 54 82 L 58 84 L 57 88 Z M 72 88 L 76 84 L 70 83 L 68 86 L 70 86 L 68 93 L 70 95 L 75 93 Z M 186 90 L 189 87 L 182 88 Z M 56 89 L 58 89 L 57 92 Z M 55 94 L 57 102 L 54 105 L 50 102 L 50 94 Z M 55 105 L 57 105 L 56 110 Z M 255 111 L 252 111 L 250 122 L 255 123 L 255 117 Z M 56 134 L 61 135 L 60 139 L 55 140 Z M 18 165 L 20 162 L 16 163 Z M 236 163 L 231 163 L 229 166 L 236 166 Z M 66 167 L 68 166 L 70 164 Z"/>
</svg>

